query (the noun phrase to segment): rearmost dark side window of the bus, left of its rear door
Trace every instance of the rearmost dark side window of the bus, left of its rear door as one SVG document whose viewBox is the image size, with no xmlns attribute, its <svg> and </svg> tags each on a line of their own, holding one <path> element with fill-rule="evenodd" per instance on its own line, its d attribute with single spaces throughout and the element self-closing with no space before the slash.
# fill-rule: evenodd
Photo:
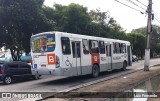
<svg viewBox="0 0 160 101">
<path fill-rule="evenodd" d="M 62 53 L 64 55 L 71 54 L 71 48 L 70 48 L 70 40 L 68 37 L 61 37 L 61 43 L 62 43 Z"/>
</svg>

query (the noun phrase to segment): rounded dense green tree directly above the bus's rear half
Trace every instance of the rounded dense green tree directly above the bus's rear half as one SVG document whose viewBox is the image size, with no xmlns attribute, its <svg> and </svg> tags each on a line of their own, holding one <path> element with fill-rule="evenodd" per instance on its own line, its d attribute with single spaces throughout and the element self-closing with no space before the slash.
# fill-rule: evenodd
<svg viewBox="0 0 160 101">
<path fill-rule="evenodd" d="M 87 8 L 71 3 L 69 6 L 54 5 L 54 17 L 57 30 L 86 34 L 86 28 L 91 21 Z"/>
</svg>

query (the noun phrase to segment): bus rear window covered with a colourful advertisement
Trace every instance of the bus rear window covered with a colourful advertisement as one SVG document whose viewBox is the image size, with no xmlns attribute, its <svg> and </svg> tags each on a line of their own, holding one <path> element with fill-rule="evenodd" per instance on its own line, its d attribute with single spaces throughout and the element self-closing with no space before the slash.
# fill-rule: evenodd
<svg viewBox="0 0 160 101">
<path fill-rule="evenodd" d="M 32 37 L 31 48 L 33 53 L 54 51 L 55 34 L 44 34 Z"/>
</svg>

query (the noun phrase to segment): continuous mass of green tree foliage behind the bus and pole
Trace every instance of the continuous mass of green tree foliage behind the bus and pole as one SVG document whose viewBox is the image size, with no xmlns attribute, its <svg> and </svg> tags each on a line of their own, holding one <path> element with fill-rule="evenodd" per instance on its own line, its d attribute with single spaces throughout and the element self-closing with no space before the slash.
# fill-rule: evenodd
<svg viewBox="0 0 160 101">
<path fill-rule="evenodd" d="M 133 45 L 133 53 L 143 57 L 146 27 L 126 34 L 116 20 L 110 17 L 109 11 L 88 11 L 87 7 L 74 3 L 68 6 L 54 4 L 51 8 L 44 6 L 43 2 L 0 0 L 0 47 L 10 49 L 14 60 L 19 60 L 20 51 L 30 51 L 32 34 L 53 30 L 128 40 Z M 158 29 L 158 26 L 153 26 L 153 54 L 160 52 Z"/>
</svg>

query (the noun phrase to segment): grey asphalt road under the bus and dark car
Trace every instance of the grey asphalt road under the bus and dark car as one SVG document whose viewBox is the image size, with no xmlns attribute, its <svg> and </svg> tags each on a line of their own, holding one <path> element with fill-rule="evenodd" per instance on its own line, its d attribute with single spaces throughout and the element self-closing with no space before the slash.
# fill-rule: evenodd
<svg viewBox="0 0 160 101">
<path fill-rule="evenodd" d="M 160 58 L 150 60 L 150 65 L 160 64 Z M 42 76 L 39 80 L 19 80 L 10 85 L 0 83 L 0 92 L 58 92 L 74 86 L 85 84 L 101 78 L 109 78 L 128 71 L 144 68 L 144 61 L 134 62 L 126 71 L 115 70 L 112 72 L 101 73 L 98 78 L 92 78 L 89 75 L 80 77 L 54 77 Z M 151 67 L 152 68 L 152 67 Z"/>
</svg>

